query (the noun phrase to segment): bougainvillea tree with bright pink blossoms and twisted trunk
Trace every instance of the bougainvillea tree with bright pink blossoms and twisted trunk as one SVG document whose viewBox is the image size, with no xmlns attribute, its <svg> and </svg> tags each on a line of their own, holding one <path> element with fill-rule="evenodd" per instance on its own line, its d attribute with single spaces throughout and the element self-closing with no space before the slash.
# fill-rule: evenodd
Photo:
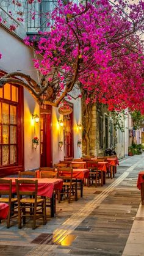
<svg viewBox="0 0 144 256">
<path fill-rule="evenodd" d="M 40 83 L 14 72 L 2 77 L 0 85 L 21 84 L 40 104 L 45 101 L 58 106 L 78 84 L 82 93 L 87 94 L 87 104 L 98 101 L 107 104 L 111 111 L 142 111 L 143 14 L 143 1 L 68 1 L 64 5 L 58 2 L 52 13 L 43 13 L 48 19 L 47 31 L 39 31 L 36 41 L 35 37 L 24 40 L 35 48 L 34 66 L 40 71 Z"/>
</svg>

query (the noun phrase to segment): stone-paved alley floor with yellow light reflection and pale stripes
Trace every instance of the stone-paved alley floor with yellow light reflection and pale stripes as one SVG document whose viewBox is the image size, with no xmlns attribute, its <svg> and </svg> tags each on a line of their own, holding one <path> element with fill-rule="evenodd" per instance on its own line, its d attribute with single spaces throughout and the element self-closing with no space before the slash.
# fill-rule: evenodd
<svg viewBox="0 0 144 256">
<path fill-rule="evenodd" d="M 2 222 L 0 255 L 144 255 L 144 207 L 136 186 L 140 170 L 144 155 L 121 160 L 106 185 L 85 187 L 77 202 L 57 203 L 56 218 L 46 226 L 32 230 L 27 224 L 18 230 L 13 221 L 6 229 Z"/>
</svg>

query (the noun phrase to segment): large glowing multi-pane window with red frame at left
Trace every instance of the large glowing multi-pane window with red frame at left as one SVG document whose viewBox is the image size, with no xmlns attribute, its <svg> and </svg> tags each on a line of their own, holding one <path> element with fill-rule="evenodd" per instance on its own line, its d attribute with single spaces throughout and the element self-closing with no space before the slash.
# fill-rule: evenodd
<svg viewBox="0 0 144 256">
<path fill-rule="evenodd" d="M 0 167 L 23 165 L 23 88 L 0 88 Z M 6 173 L 5 173 L 6 174 Z"/>
</svg>

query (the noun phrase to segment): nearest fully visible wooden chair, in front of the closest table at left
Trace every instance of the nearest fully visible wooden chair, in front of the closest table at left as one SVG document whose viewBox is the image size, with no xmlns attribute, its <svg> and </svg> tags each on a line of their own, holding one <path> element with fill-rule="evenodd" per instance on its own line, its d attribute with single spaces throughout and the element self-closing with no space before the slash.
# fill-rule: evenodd
<svg viewBox="0 0 144 256">
<path fill-rule="evenodd" d="M 16 179 L 16 192 L 18 197 L 18 228 L 21 229 L 21 219 L 26 224 L 26 217 L 33 218 L 32 229 L 36 227 L 36 219 L 43 218 L 43 225 L 46 224 L 46 200 L 37 197 L 38 181 L 37 180 L 18 180 Z M 23 191 L 23 186 L 29 188 L 32 186 L 33 191 L 29 189 Z M 33 197 L 33 198 L 30 198 Z"/>
</svg>

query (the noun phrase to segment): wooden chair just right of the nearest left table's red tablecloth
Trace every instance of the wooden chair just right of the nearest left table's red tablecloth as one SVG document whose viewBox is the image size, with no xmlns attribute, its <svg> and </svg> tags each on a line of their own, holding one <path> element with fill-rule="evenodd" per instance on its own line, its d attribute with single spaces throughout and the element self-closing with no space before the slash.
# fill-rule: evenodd
<svg viewBox="0 0 144 256">
<path fill-rule="evenodd" d="M 77 182 L 73 181 L 73 169 L 71 168 L 57 168 L 58 178 L 63 180 L 62 191 L 58 192 L 58 200 L 60 202 L 60 196 L 67 195 L 68 203 L 71 202 L 71 196 L 74 196 L 77 201 Z"/>
</svg>

